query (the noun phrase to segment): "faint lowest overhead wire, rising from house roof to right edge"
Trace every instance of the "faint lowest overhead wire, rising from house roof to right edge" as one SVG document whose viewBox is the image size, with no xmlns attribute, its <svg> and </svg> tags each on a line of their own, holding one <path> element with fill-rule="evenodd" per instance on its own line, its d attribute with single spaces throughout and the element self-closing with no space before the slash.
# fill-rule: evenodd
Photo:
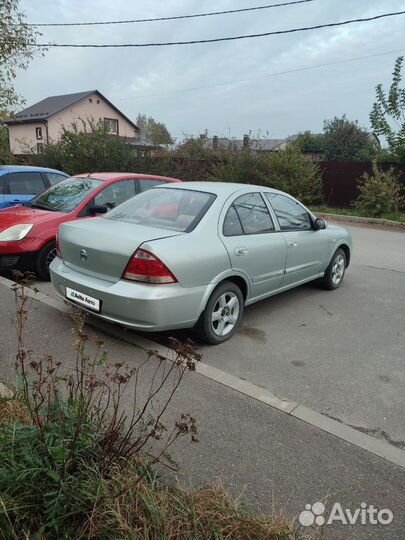
<svg viewBox="0 0 405 540">
<path fill-rule="evenodd" d="M 403 49 L 393 49 L 393 50 L 385 51 L 385 52 L 381 52 L 381 53 L 368 54 L 368 55 L 365 55 L 365 56 L 356 56 L 356 57 L 353 57 L 353 58 L 346 58 L 345 60 L 336 60 L 335 62 L 327 62 L 327 63 L 324 63 L 324 64 L 314 64 L 312 66 L 306 66 L 306 67 L 302 67 L 302 68 L 289 69 L 289 70 L 286 70 L 286 71 L 277 71 L 277 72 L 274 72 L 274 73 L 266 73 L 265 75 L 257 75 L 255 77 L 246 77 L 245 79 L 237 79 L 237 80 L 233 80 L 233 81 L 224 81 L 224 82 L 220 82 L 220 83 L 207 84 L 207 85 L 204 85 L 204 86 L 193 86 L 193 87 L 190 87 L 190 88 L 179 88 L 178 90 L 171 90 L 171 91 L 168 91 L 168 92 L 159 92 L 159 93 L 156 93 L 156 94 L 144 94 L 144 95 L 133 96 L 133 97 L 129 97 L 129 98 L 117 98 L 117 101 L 132 101 L 134 99 L 143 99 L 143 98 L 149 98 L 149 97 L 165 96 L 165 95 L 168 95 L 168 94 L 177 94 L 177 93 L 180 93 L 180 92 L 191 92 L 191 91 L 194 91 L 194 90 L 206 90 L 208 88 L 215 88 L 215 87 L 218 87 L 218 86 L 228 86 L 230 84 L 237 84 L 237 83 L 255 81 L 255 80 L 258 80 L 258 79 L 266 79 L 267 77 L 278 77 L 280 75 L 287 75 L 289 73 L 299 73 L 301 71 L 308 71 L 308 70 L 311 70 L 311 69 L 318 69 L 318 68 L 327 67 L 327 66 L 335 66 L 335 65 L 339 65 L 339 64 L 346 64 L 346 63 L 349 63 L 349 62 L 357 62 L 359 60 L 365 60 L 367 58 L 375 58 L 377 56 L 385 56 L 387 54 L 393 54 L 393 53 L 399 53 L 399 52 L 403 52 Z"/>
</svg>

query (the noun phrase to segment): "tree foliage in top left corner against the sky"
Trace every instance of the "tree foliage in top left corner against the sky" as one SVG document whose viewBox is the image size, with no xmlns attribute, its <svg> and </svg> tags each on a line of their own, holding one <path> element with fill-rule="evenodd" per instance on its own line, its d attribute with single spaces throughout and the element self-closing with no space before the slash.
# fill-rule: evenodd
<svg viewBox="0 0 405 540">
<path fill-rule="evenodd" d="M 27 69 L 40 34 L 25 22 L 19 0 L 0 2 L 0 110 L 22 102 L 13 86 L 17 70 Z"/>
</svg>

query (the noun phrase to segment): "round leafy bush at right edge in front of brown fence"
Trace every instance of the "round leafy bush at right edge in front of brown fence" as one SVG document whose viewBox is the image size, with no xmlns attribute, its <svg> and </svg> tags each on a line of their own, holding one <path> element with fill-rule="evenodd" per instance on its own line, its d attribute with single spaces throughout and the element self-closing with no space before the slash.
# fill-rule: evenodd
<svg viewBox="0 0 405 540">
<path fill-rule="evenodd" d="M 392 167 L 382 171 L 373 162 L 372 174 L 360 177 L 358 189 L 360 194 L 353 205 L 364 216 L 380 217 L 404 209 L 401 184 Z"/>
</svg>

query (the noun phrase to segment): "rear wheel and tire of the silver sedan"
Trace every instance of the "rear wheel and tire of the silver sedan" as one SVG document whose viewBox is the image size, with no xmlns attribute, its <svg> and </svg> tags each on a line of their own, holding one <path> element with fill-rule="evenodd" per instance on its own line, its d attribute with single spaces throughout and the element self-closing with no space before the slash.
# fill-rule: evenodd
<svg viewBox="0 0 405 540">
<path fill-rule="evenodd" d="M 243 317 L 243 294 L 232 281 L 224 281 L 211 294 L 197 323 L 203 341 L 218 345 L 233 336 Z"/>
</svg>

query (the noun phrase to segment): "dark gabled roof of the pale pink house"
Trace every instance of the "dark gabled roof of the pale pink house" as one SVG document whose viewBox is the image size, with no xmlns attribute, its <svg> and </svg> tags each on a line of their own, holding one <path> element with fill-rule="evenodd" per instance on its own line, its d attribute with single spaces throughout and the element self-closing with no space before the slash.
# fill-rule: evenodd
<svg viewBox="0 0 405 540">
<path fill-rule="evenodd" d="M 118 114 L 120 114 L 131 126 L 139 131 L 138 126 L 136 126 L 132 120 L 130 120 L 125 114 L 123 114 L 117 107 L 111 103 L 101 92 L 98 90 L 88 90 L 86 92 L 76 92 L 75 94 L 63 94 L 61 96 L 50 96 L 42 101 L 38 101 L 31 107 L 27 107 L 23 111 L 17 113 L 13 118 L 8 118 L 4 120 L 4 124 L 27 124 L 31 122 L 38 122 L 41 120 L 47 120 L 54 114 L 67 109 L 71 105 L 81 101 L 82 99 L 92 95 L 97 94 L 101 99 L 107 102 Z"/>
</svg>

